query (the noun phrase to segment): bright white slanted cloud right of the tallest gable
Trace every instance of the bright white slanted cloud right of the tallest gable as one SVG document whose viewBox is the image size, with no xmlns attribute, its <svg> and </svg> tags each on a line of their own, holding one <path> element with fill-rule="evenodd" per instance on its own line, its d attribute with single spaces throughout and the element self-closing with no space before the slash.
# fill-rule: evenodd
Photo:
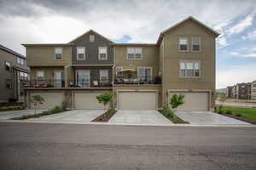
<svg viewBox="0 0 256 170">
<path fill-rule="evenodd" d="M 231 27 L 228 30 L 228 34 L 237 34 L 240 33 L 241 31 L 244 31 L 247 29 L 247 27 L 253 25 L 253 14 L 247 15 L 247 17 L 244 20 L 241 20 L 236 26 Z"/>
</svg>

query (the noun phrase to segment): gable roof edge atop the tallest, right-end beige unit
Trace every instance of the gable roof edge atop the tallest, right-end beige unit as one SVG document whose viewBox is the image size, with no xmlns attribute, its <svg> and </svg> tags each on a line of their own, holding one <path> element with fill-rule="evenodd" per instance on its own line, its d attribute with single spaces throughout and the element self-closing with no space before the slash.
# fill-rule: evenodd
<svg viewBox="0 0 256 170">
<path fill-rule="evenodd" d="M 217 31 L 214 31 L 212 28 L 210 28 L 209 26 L 203 24 L 201 21 L 199 20 L 196 20 L 193 16 L 189 16 L 188 18 L 184 19 L 184 20 L 181 20 L 179 21 L 177 24 L 167 28 L 165 31 L 161 31 L 160 32 L 160 36 L 157 40 L 157 44 L 159 44 L 164 36 L 164 34 L 166 34 L 166 32 L 168 31 L 171 31 L 172 29 L 176 28 L 177 26 L 181 26 L 184 22 L 188 21 L 188 20 L 193 20 L 195 21 L 197 24 L 203 26 L 204 28 L 206 28 L 208 31 L 212 32 L 212 34 L 215 36 L 215 37 L 218 37 L 219 36 L 219 33 Z"/>
</svg>

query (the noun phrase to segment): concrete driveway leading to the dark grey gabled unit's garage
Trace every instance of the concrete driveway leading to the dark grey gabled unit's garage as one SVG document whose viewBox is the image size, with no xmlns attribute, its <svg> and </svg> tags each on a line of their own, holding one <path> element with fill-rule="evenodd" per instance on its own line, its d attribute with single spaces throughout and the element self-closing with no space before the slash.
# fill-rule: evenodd
<svg viewBox="0 0 256 170">
<path fill-rule="evenodd" d="M 29 120 L 34 122 L 91 122 L 103 113 L 103 110 L 73 110 Z"/>
</svg>

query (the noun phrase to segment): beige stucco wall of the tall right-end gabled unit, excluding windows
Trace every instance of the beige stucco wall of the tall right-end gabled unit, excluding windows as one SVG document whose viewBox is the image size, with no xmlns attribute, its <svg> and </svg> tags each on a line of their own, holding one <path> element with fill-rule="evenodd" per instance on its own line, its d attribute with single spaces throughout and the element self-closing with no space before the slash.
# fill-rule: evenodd
<svg viewBox="0 0 256 170">
<path fill-rule="evenodd" d="M 178 38 L 188 37 L 189 51 L 179 52 Z M 201 52 L 191 52 L 191 37 L 201 37 Z M 211 90 L 215 92 L 215 36 L 204 27 L 188 20 L 182 26 L 166 32 L 160 48 L 163 65 L 163 94 L 168 90 Z M 180 61 L 199 61 L 201 63 L 200 77 L 180 77 Z M 211 94 L 212 94 L 211 93 Z M 167 99 L 163 95 L 163 101 Z M 214 105 L 214 95 L 212 94 L 212 105 Z"/>
</svg>

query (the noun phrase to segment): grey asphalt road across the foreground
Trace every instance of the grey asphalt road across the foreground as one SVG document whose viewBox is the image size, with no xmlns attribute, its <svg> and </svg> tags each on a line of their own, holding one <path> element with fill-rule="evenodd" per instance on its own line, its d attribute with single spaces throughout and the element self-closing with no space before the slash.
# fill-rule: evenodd
<svg viewBox="0 0 256 170">
<path fill-rule="evenodd" d="M 255 127 L 0 122 L 0 169 L 256 169 Z"/>
</svg>

